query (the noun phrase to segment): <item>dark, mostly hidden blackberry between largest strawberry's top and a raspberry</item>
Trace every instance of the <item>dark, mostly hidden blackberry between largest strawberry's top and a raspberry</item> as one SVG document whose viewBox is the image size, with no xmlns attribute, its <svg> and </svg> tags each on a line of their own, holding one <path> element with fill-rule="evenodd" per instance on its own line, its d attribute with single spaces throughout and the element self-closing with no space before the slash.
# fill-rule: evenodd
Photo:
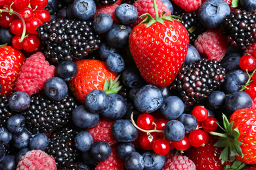
<svg viewBox="0 0 256 170">
<path fill-rule="evenodd" d="M 207 30 L 198 20 L 198 14 L 196 12 L 177 10 L 173 12 L 173 15 L 182 18 L 181 24 L 184 25 L 186 30 L 188 30 L 190 44 L 194 44 L 194 41 L 198 38 L 198 35 Z"/>
</svg>

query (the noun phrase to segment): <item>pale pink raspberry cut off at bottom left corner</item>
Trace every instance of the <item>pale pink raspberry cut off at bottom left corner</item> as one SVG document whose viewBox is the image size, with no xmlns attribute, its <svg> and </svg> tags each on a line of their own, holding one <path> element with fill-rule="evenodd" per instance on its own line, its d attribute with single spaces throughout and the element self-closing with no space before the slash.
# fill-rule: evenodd
<svg viewBox="0 0 256 170">
<path fill-rule="evenodd" d="M 53 156 L 49 156 L 42 150 L 30 150 L 18 162 L 16 170 L 28 169 L 57 169 Z"/>
</svg>

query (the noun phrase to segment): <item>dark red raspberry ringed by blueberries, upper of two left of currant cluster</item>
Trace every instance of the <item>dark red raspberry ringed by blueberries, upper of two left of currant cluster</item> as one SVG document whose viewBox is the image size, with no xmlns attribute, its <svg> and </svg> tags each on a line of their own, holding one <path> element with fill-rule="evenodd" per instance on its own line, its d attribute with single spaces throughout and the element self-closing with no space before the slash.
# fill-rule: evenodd
<svg viewBox="0 0 256 170">
<path fill-rule="evenodd" d="M 111 128 L 114 122 L 100 119 L 100 122 L 95 127 L 88 129 L 88 132 L 91 133 L 93 141 L 96 143 L 98 141 L 105 141 L 106 143 L 112 145 L 116 144 L 117 141 L 112 136 Z"/>
</svg>

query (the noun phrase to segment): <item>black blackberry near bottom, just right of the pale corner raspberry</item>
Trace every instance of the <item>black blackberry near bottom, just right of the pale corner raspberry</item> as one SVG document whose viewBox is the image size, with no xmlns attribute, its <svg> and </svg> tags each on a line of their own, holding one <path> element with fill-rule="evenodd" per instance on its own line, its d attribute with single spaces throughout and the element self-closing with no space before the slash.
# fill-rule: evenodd
<svg viewBox="0 0 256 170">
<path fill-rule="evenodd" d="M 58 129 L 51 135 L 49 145 L 45 152 L 56 161 L 57 168 L 67 167 L 78 158 L 78 151 L 75 147 L 75 135 L 73 129 Z"/>
</svg>

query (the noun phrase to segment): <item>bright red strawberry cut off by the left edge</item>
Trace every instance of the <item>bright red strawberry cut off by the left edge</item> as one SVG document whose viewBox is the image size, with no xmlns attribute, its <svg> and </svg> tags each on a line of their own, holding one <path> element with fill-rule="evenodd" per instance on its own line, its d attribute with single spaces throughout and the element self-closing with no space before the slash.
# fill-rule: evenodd
<svg viewBox="0 0 256 170">
<path fill-rule="evenodd" d="M 14 92 L 15 82 L 25 59 L 24 54 L 12 46 L 0 47 L 0 95 L 9 97 Z"/>
</svg>

